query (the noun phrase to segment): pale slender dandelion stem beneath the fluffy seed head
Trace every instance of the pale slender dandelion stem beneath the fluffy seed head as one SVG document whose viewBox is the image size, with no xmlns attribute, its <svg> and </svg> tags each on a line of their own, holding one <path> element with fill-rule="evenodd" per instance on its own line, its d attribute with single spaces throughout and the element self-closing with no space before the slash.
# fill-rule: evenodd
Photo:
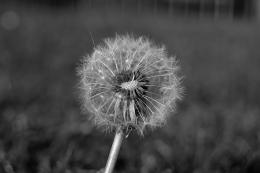
<svg viewBox="0 0 260 173">
<path fill-rule="evenodd" d="M 115 164 L 116 164 L 117 156 L 118 156 L 118 153 L 119 153 L 122 141 L 123 141 L 123 137 L 124 137 L 123 130 L 121 128 L 117 129 L 104 173 L 113 172 Z"/>
</svg>

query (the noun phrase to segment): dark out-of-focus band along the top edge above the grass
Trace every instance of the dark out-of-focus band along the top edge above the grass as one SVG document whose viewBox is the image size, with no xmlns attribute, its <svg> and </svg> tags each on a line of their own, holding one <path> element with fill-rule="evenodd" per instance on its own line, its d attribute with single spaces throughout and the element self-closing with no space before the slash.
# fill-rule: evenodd
<svg viewBox="0 0 260 173">
<path fill-rule="evenodd" d="M 23 4 L 47 8 L 67 8 L 85 5 L 90 8 L 117 6 L 124 9 L 150 9 L 180 13 L 231 13 L 235 17 L 253 16 L 258 0 L 1 0 L 1 3 Z M 224 9 L 224 10 L 223 10 Z M 202 11 L 202 12 L 201 12 Z"/>
</svg>

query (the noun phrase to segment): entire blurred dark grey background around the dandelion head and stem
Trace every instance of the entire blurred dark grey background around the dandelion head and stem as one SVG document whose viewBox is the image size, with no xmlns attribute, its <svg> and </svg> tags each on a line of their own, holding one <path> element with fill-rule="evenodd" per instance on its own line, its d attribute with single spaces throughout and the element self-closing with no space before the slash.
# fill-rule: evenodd
<svg viewBox="0 0 260 173">
<path fill-rule="evenodd" d="M 185 96 L 132 133 L 117 173 L 260 172 L 259 0 L 1 0 L 0 172 L 94 173 L 113 134 L 80 111 L 76 67 L 103 38 L 144 35 L 176 55 Z"/>
</svg>

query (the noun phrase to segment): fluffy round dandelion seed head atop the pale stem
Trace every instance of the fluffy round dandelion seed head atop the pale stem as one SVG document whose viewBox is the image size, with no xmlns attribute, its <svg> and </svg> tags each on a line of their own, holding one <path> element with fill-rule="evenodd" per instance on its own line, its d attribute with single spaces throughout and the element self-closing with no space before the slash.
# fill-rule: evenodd
<svg viewBox="0 0 260 173">
<path fill-rule="evenodd" d="M 181 96 L 177 70 L 175 58 L 148 39 L 106 39 L 79 67 L 83 107 L 108 129 L 160 126 Z"/>
</svg>

